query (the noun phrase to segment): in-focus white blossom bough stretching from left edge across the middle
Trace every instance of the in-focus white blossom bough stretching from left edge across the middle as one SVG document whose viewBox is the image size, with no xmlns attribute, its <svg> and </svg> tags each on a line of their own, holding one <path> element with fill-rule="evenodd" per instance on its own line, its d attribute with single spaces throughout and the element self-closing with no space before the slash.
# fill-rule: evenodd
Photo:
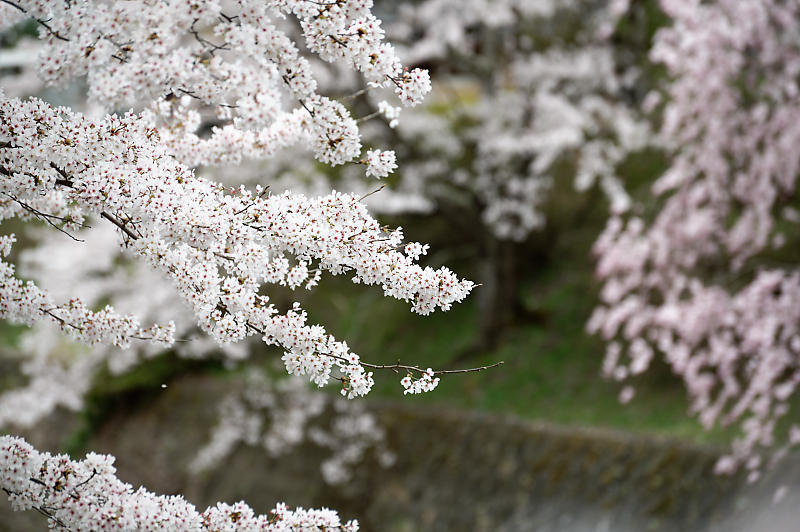
<svg viewBox="0 0 800 532">
<path fill-rule="evenodd" d="M 80 227 L 86 213 L 99 216 L 120 229 L 128 250 L 173 280 L 201 328 L 220 343 L 258 334 L 286 348 L 291 373 L 320 385 L 339 366 L 350 396 L 364 395 L 372 382 L 359 358 L 307 325 L 299 306 L 278 312 L 259 293 L 264 283 L 311 287 L 323 271 L 352 272 L 354 281 L 380 284 L 420 314 L 447 310 L 472 288 L 447 268 L 417 265 L 415 246 L 403 247 L 402 232 L 384 231 L 355 196 L 268 195 L 195 177 L 139 115 L 96 123 L 41 101 L 11 99 L 0 104 L 0 127 L 9 139 L 0 168 L 6 216 L 56 219 L 64 230 Z M 11 241 L 4 240 L 6 250 Z M 55 305 L 12 275 L 9 267 L 7 318 L 31 323 L 44 315 L 88 343 L 172 341 L 169 324 L 142 330 L 110 309 L 98 315 L 77 301 Z"/>
</svg>

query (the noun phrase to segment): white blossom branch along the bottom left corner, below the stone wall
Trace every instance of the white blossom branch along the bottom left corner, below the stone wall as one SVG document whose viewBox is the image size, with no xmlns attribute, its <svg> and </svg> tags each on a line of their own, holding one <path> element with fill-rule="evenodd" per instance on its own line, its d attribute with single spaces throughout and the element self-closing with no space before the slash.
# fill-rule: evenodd
<svg viewBox="0 0 800 532">
<path fill-rule="evenodd" d="M 179 495 L 135 490 L 116 477 L 114 457 L 89 453 L 84 460 L 51 455 L 21 438 L 0 436 L 0 489 L 15 510 L 37 509 L 53 530 L 355 532 L 336 512 L 278 504 L 257 515 L 244 502 L 218 503 L 199 512 Z"/>
</svg>

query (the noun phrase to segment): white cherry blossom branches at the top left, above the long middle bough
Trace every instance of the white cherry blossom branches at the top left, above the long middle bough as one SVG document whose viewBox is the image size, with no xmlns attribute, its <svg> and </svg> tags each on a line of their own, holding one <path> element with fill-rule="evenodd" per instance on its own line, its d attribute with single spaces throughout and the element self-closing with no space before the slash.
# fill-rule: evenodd
<svg viewBox="0 0 800 532">
<path fill-rule="evenodd" d="M 149 105 L 159 127 L 172 130 L 162 140 L 189 164 L 268 157 L 298 142 L 320 161 L 342 164 L 361 151 L 355 120 L 317 93 L 311 64 L 282 23 L 293 14 L 309 50 L 416 105 L 430 91 L 427 72 L 402 67 L 371 7 L 364 0 L 21 0 L 0 6 L 0 29 L 24 16 L 39 21 L 44 81 L 86 76 L 90 99 L 105 109 Z M 196 111 L 209 106 L 229 123 L 200 139 Z"/>
</svg>

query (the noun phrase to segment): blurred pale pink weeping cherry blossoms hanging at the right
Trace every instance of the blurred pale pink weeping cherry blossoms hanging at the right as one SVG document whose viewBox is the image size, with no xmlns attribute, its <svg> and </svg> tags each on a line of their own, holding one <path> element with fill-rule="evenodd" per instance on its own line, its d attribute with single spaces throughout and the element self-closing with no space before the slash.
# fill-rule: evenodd
<svg viewBox="0 0 800 532">
<path fill-rule="evenodd" d="M 671 26 L 651 58 L 671 76 L 673 159 L 653 186 L 657 215 L 612 217 L 595 245 L 604 284 L 589 328 L 609 341 L 608 375 L 637 375 L 660 353 L 703 425 L 740 423 L 718 468 L 745 464 L 755 479 L 800 383 L 800 275 L 774 260 L 792 256 L 800 222 L 800 4 L 660 5 Z"/>
</svg>

